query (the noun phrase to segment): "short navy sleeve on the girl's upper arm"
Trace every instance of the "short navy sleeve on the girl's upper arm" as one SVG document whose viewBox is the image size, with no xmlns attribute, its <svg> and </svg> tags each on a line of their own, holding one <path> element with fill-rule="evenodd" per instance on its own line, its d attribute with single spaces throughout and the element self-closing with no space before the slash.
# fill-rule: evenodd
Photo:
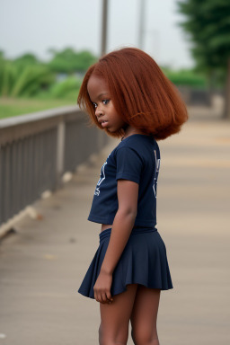
<svg viewBox="0 0 230 345">
<path fill-rule="evenodd" d="M 135 149 L 128 146 L 118 149 L 116 180 L 123 179 L 139 183 L 142 169 L 142 158 Z"/>
</svg>

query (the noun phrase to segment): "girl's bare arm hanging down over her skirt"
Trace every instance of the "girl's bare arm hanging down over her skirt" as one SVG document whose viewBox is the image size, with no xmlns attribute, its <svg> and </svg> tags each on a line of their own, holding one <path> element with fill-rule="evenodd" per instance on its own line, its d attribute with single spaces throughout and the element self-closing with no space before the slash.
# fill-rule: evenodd
<svg viewBox="0 0 230 345">
<path fill-rule="evenodd" d="M 111 239 L 102 262 L 102 268 L 94 285 L 94 297 L 98 302 L 108 303 L 111 298 L 112 272 L 128 242 L 137 216 L 139 185 L 128 180 L 118 180 L 119 209 L 114 217 Z"/>
</svg>

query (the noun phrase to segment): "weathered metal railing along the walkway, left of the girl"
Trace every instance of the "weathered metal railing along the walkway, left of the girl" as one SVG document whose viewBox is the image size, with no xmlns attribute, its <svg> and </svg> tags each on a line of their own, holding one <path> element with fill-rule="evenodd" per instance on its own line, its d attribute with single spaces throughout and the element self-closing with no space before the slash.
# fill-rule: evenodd
<svg viewBox="0 0 230 345">
<path fill-rule="evenodd" d="M 76 106 L 0 120 L 0 226 L 109 143 Z"/>
</svg>

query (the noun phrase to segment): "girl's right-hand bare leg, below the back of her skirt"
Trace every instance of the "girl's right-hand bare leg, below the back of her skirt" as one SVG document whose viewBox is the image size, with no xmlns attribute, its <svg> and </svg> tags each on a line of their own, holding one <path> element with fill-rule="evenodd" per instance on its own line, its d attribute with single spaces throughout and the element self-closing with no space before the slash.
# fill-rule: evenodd
<svg viewBox="0 0 230 345">
<path fill-rule="evenodd" d="M 139 285 L 131 314 L 132 339 L 135 345 L 159 345 L 156 318 L 161 290 Z"/>
</svg>

